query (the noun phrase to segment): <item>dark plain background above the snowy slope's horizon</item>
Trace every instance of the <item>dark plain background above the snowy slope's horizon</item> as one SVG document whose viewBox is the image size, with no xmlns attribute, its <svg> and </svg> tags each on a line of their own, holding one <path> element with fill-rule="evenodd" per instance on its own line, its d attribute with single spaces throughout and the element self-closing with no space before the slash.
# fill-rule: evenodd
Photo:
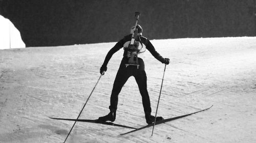
<svg viewBox="0 0 256 143">
<path fill-rule="evenodd" d="M 255 0 L 0 0 L 27 47 L 115 42 L 135 12 L 148 39 L 255 36 Z"/>
</svg>

